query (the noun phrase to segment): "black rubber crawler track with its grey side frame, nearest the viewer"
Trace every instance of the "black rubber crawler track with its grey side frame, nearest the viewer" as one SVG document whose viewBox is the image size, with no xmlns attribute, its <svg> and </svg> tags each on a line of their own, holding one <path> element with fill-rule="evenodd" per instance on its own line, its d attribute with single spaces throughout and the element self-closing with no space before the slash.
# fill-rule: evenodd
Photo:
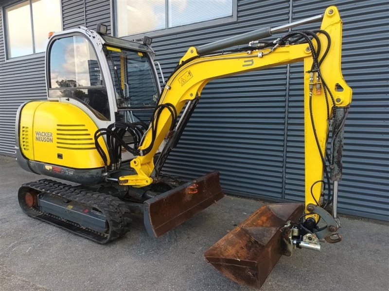
<svg viewBox="0 0 389 291">
<path fill-rule="evenodd" d="M 22 185 L 18 199 L 27 215 L 98 243 L 123 236 L 131 224 L 123 201 L 82 186 L 42 179 Z"/>
</svg>

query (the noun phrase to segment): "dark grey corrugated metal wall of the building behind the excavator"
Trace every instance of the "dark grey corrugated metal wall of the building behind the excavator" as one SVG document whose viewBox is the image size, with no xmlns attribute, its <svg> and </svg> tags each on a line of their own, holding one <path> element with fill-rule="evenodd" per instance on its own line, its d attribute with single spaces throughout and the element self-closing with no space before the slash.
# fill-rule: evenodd
<svg viewBox="0 0 389 291">
<path fill-rule="evenodd" d="M 385 1 L 238 0 L 237 21 L 156 36 L 153 48 L 166 77 L 190 46 L 315 16 L 332 4 L 343 19 L 343 75 L 354 91 L 346 122 L 339 211 L 388 220 Z M 85 7 L 82 0 L 62 0 L 64 29 L 93 29 L 98 22 L 110 28 L 109 8 L 110 0 L 86 0 Z M 4 63 L 2 29 L 0 34 L 0 152 L 13 155 L 16 109 L 24 101 L 46 97 L 44 57 Z M 219 170 L 227 193 L 302 201 L 302 88 L 301 64 L 211 81 L 165 171 L 194 178 Z"/>
</svg>

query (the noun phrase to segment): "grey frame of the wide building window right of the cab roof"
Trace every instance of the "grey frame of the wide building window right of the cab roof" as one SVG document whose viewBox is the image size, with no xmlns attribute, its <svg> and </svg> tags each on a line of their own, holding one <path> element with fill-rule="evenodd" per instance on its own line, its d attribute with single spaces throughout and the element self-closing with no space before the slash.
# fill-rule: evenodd
<svg viewBox="0 0 389 291">
<path fill-rule="evenodd" d="M 137 34 L 130 34 L 130 35 L 124 35 L 124 36 L 118 36 L 118 14 L 117 14 L 117 5 L 116 5 L 117 0 L 111 0 L 112 3 L 112 32 L 116 37 L 121 37 L 124 39 L 132 40 L 132 39 L 141 39 L 143 38 L 144 35 L 154 37 L 154 36 L 162 36 L 165 34 L 171 34 L 171 33 L 177 33 L 177 32 L 186 32 L 190 30 L 195 30 L 198 28 L 207 28 L 211 26 L 216 26 L 220 24 L 226 24 L 230 22 L 235 22 L 238 20 L 237 14 L 238 14 L 238 0 L 232 0 L 232 16 L 225 16 L 225 17 L 220 17 L 216 19 L 211 19 L 211 20 L 205 20 L 205 21 L 200 21 L 200 22 L 195 22 L 195 23 L 190 23 L 190 24 L 185 24 L 185 25 L 180 25 L 180 26 L 175 26 L 175 27 L 169 27 L 169 28 L 164 28 L 156 31 L 150 31 L 150 32 L 141 32 Z M 165 0 L 168 1 L 168 0 Z M 166 6 L 167 10 L 167 6 Z"/>
</svg>

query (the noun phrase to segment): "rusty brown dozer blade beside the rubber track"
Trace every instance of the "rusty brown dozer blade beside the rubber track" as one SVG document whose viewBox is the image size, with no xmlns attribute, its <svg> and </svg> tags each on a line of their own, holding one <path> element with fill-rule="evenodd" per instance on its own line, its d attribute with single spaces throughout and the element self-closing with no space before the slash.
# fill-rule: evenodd
<svg viewBox="0 0 389 291">
<path fill-rule="evenodd" d="M 219 172 L 212 172 L 144 202 L 147 233 L 159 237 L 224 197 Z"/>
</svg>

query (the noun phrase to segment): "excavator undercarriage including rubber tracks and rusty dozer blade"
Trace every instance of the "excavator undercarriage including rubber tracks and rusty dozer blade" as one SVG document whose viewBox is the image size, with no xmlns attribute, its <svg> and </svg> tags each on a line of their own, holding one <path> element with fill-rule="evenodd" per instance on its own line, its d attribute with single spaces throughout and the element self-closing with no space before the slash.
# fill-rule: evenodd
<svg viewBox="0 0 389 291">
<path fill-rule="evenodd" d="M 178 184 L 165 178 L 153 187 L 161 192 L 115 191 L 41 179 L 22 185 L 18 200 L 27 215 L 104 244 L 129 231 L 131 212 L 143 213 L 148 234 L 158 237 L 224 196 L 218 172 Z"/>
</svg>

